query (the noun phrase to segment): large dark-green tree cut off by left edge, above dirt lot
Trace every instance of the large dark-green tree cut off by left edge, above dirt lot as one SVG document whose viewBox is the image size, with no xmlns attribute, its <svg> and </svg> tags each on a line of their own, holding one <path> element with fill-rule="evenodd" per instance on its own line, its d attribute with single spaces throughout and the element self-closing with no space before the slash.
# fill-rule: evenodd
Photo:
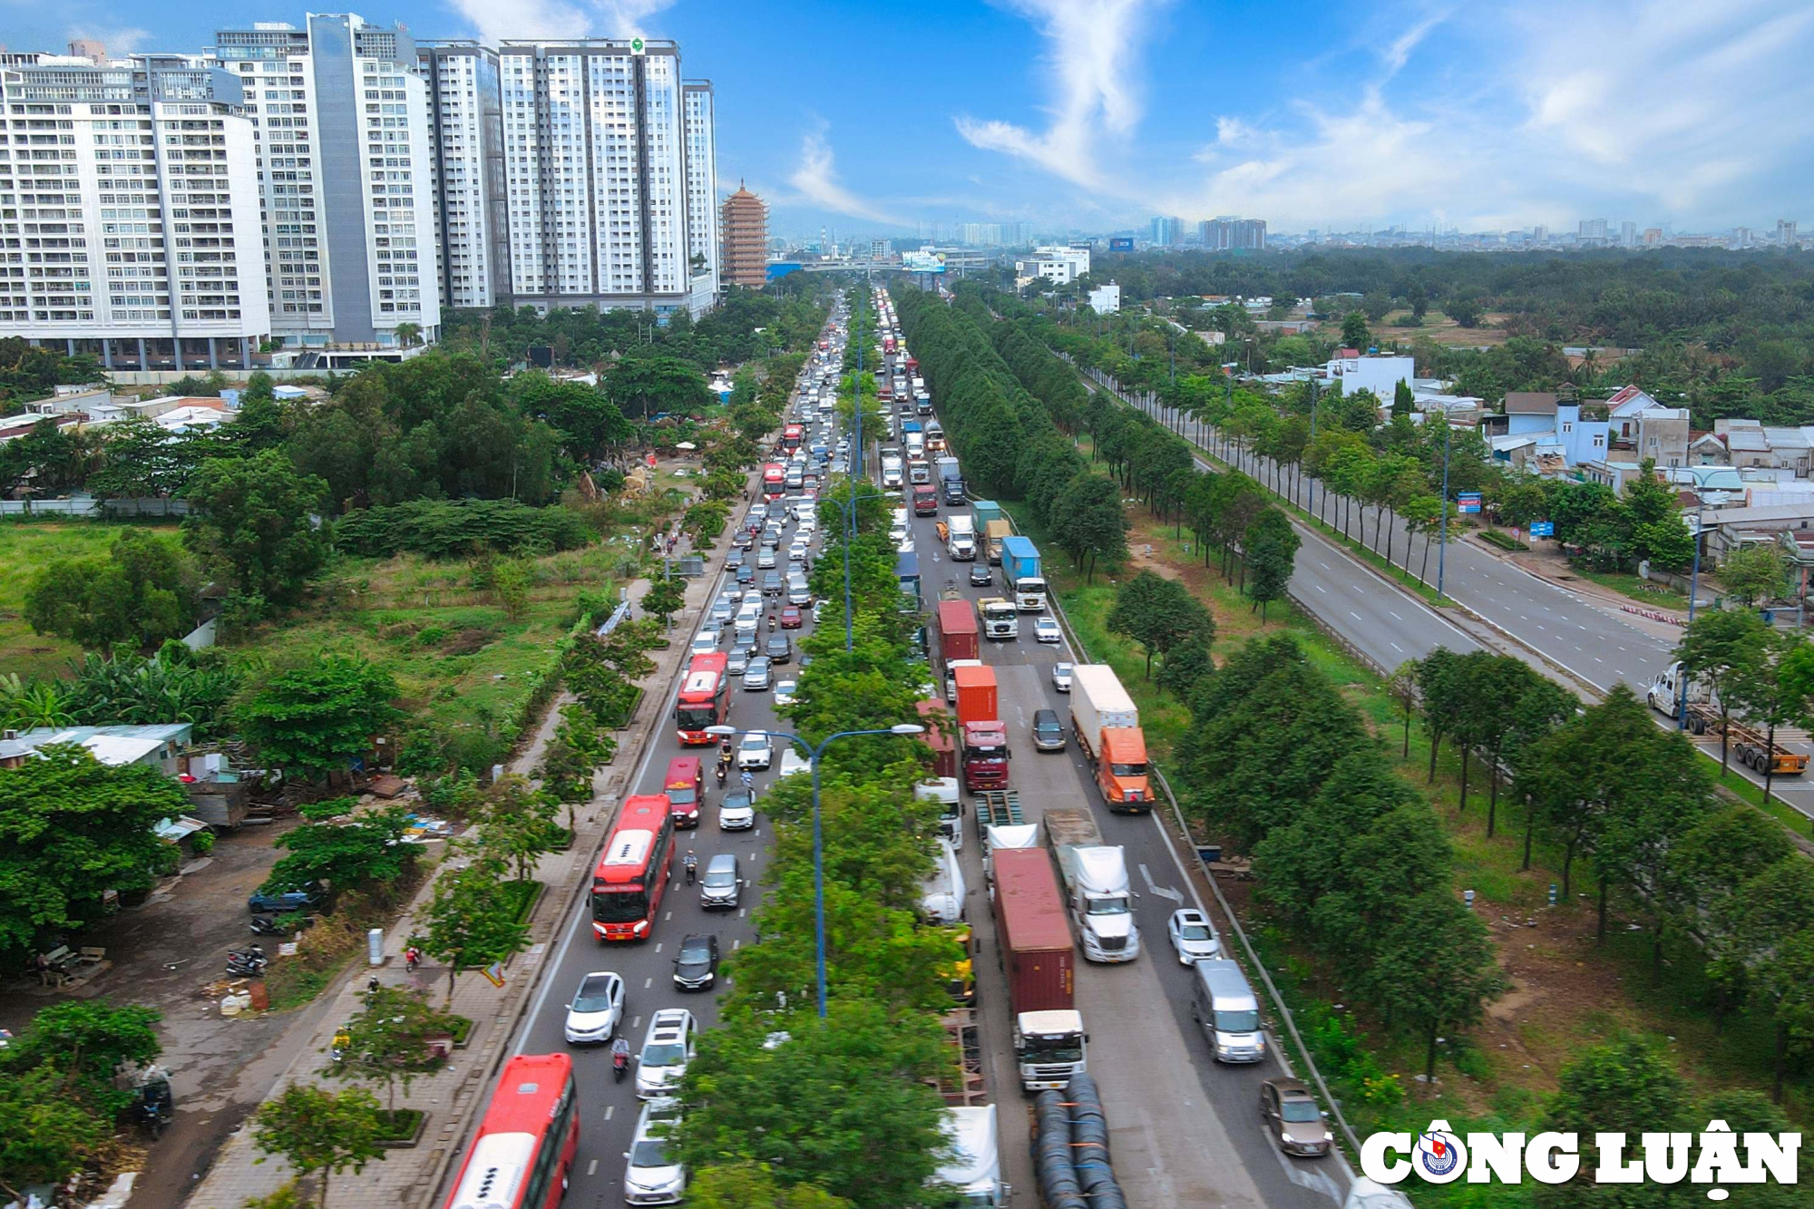
<svg viewBox="0 0 1814 1209">
<path fill-rule="evenodd" d="M 152 828 L 189 810 L 156 768 L 63 744 L 38 757 L 0 777 L 0 949 L 13 953 L 96 919 L 109 890 L 149 890 L 163 853 Z"/>
</svg>

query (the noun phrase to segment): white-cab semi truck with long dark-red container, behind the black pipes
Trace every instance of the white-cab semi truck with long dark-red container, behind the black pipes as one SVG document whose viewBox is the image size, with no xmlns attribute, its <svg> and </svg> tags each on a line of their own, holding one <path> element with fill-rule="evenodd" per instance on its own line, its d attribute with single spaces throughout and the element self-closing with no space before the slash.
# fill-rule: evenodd
<svg viewBox="0 0 1814 1209">
<path fill-rule="evenodd" d="M 1021 1087 L 1063 1087 L 1087 1066 L 1088 1038 L 1072 1000 L 1076 971 L 1065 904 L 1038 848 L 996 853 L 996 944 L 1009 978 Z"/>
</svg>

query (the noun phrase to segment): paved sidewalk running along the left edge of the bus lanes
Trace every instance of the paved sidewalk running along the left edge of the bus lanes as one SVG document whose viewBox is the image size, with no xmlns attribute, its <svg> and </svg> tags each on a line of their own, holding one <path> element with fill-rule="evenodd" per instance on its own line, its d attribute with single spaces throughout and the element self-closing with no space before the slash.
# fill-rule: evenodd
<svg viewBox="0 0 1814 1209">
<path fill-rule="evenodd" d="M 722 557 L 720 552 L 713 552 Z M 713 557 L 707 555 L 707 563 Z M 541 973 L 542 957 L 553 940 L 562 920 L 573 909 L 577 897 L 588 884 L 588 873 L 604 842 L 606 830 L 613 817 L 613 808 L 628 788 L 635 773 L 637 757 L 648 746 L 657 726 L 662 724 L 662 693 L 680 670 L 686 659 L 686 637 L 698 626 L 698 617 L 709 601 L 715 575 L 707 574 L 686 585 L 686 608 L 673 615 L 675 641 L 668 650 L 651 652 L 655 672 L 644 681 L 648 693 L 637 710 L 637 717 L 628 732 L 619 737 L 617 759 L 593 777 L 591 804 L 575 811 L 575 840 L 566 851 L 548 853 L 535 866 L 535 879 L 548 890 L 542 893 L 535 913 L 530 919 L 530 948 L 512 958 L 506 966 L 504 986 L 493 988 L 477 971 L 463 973 L 455 980 L 452 1011 L 468 1017 L 472 1035 L 463 1049 L 454 1053 L 452 1064 L 432 1076 L 417 1078 L 408 1095 L 399 1089 L 397 1107 L 423 1109 L 428 1115 L 419 1142 L 414 1147 L 399 1147 L 386 1153 L 383 1162 L 366 1165 L 363 1175 L 332 1176 L 330 1191 L 336 1205 L 428 1205 L 446 1178 L 448 1167 L 457 1151 L 466 1144 L 472 1115 L 483 1106 L 486 1091 L 495 1080 L 497 1069 L 508 1055 L 517 1022 L 528 1009 Z M 649 581 L 639 579 L 629 586 L 633 601 L 642 599 Z M 541 752 L 561 721 L 559 708 L 571 701 L 562 693 L 550 706 L 541 728 L 517 755 L 510 772 L 528 775 L 541 761 Z M 414 984 L 430 993 L 434 1004 L 441 1004 L 446 993 L 446 968 L 421 966 L 414 975 L 403 969 L 403 948 L 410 931 L 408 917 L 432 897 L 432 880 L 412 900 L 408 913 L 385 937 L 385 968 L 372 971 L 363 962 L 350 968 L 341 977 L 337 988 L 325 991 L 334 997 L 332 1008 L 321 1017 L 314 1037 L 301 1055 L 290 1064 L 283 1076 L 270 1087 L 265 1098 L 279 1095 L 296 1082 L 321 1082 L 328 1087 L 341 1087 L 337 1080 L 319 1078 L 327 1066 L 327 1051 L 334 1040 L 334 1031 L 361 1009 L 359 995 L 366 980 L 375 973 L 383 982 L 394 986 Z M 383 1089 L 377 1089 L 383 1098 Z M 250 1129 L 243 1127 L 227 1140 L 214 1165 L 187 1202 L 187 1209 L 241 1209 L 254 1196 L 267 1196 L 290 1178 L 288 1162 L 279 1156 L 265 1156 L 254 1144 Z"/>
</svg>

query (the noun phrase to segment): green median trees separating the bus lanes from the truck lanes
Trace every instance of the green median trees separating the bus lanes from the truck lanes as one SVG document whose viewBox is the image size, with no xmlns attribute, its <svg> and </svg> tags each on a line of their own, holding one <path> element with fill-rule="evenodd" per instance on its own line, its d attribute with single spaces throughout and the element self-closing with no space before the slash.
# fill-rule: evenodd
<svg viewBox="0 0 1814 1209">
<path fill-rule="evenodd" d="M 825 499 L 849 499 L 833 479 Z M 854 499 L 849 539 L 853 646 L 838 610 L 802 641 L 813 663 L 778 712 L 807 742 L 844 730 L 918 722 L 923 664 L 909 659 L 918 615 L 902 612 L 889 516 Z M 844 526 L 827 525 L 813 592 L 844 599 Z M 934 804 L 916 801 L 925 748 L 898 735 L 831 744 L 820 764 L 829 1013 L 814 1008 L 813 802 L 805 773 L 775 782 L 760 942 L 726 962 L 720 1026 L 700 1037 L 680 1084 L 677 1155 L 688 1204 L 891 1209 L 943 1204 L 927 1180 L 943 1147 L 940 1078 L 956 1055 L 940 1024 L 963 949 L 920 922 L 932 870 Z M 784 1038 L 776 1044 L 776 1038 Z M 749 1138 L 762 1136 L 760 1153 Z"/>
</svg>

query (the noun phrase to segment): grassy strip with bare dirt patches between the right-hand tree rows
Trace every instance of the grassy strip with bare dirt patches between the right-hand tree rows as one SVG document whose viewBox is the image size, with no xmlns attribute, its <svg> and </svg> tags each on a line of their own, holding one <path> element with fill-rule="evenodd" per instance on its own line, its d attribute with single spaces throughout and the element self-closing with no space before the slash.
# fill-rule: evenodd
<svg viewBox="0 0 1814 1209">
<path fill-rule="evenodd" d="M 1023 525 L 1025 510 L 1009 510 Z M 1250 637 L 1288 630 L 1335 681 L 1368 728 L 1399 759 L 1406 781 L 1429 801 L 1455 848 L 1457 891 L 1475 891 L 1475 909 L 1487 924 L 1500 966 L 1513 982 L 1513 989 L 1489 1006 L 1484 1024 L 1444 1044 L 1437 1084 L 1426 1086 L 1417 1078 L 1424 1066 L 1419 1040 L 1384 1031 L 1366 1006 L 1355 1004 L 1344 989 L 1344 969 L 1312 957 L 1270 928 L 1264 911 L 1248 904 L 1252 884 L 1224 886 L 1244 908 L 1243 917 L 1263 960 L 1292 1002 L 1319 1067 L 1331 1078 L 1344 1113 L 1362 1136 L 1388 1127 L 1422 1129 L 1431 1116 L 1448 1116 L 1464 1131 L 1529 1129 L 1544 1098 L 1555 1091 L 1560 1069 L 1582 1049 L 1627 1031 L 1651 1038 L 1700 1093 L 1769 1089 L 1769 1020 L 1743 1011 L 1716 1029 L 1696 949 L 1687 944 L 1665 948 L 1663 975 L 1653 986 L 1649 933 L 1638 929 L 1643 917 L 1616 893 L 1607 942 L 1596 946 L 1585 862 L 1576 860 L 1573 900 L 1549 908 L 1549 886 L 1562 880 L 1562 853 L 1538 833 L 1531 868 L 1522 868 L 1526 813 L 1506 791 L 1498 797 L 1495 837 L 1487 839 L 1487 786 L 1480 766 L 1473 770 L 1469 801 L 1462 808 L 1460 766 L 1453 750 L 1440 752 L 1437 777 L 1426 781 L 1428 737 L 1413 722 L 1406 748 L 1404 715 L 1371 670 L 1342 654 L 1293 608 L 1272 606 L 1263 623 L 1250 601 L 1214 566 L 1203 568 L 1201 552 L 1188 550 L 1188 536 L 1174 536 L 1168 525 L 1156 525 L 1137 506 L 1130 506 L 1128 519 L 1134 557 L 1123 575 L 1150 568 L 1185 581 L 1215 615 L 1219 659 Z M 1045 534 L 1038 526 L 1023 528 L 1041 543 Z M 1041 546 L 1052 548 L 1050 543 Z M 1116 666 L 1141 708 L 1156 762 L 1168 766 L 1190 717 L 1181 703 L 1143 679 L 1145 657 L 1137 646 L 1107 632 L 1114 604 L 1112 577 L 1097 572 L 1096 583 L 1087 585 L 1063 554 L 1047 559 L 1045 574 L 1090 657 Z M 1172 770 L 1175 764 L 1170 764 Z M 1792 1118 L 1807 1118 L 1814 1107 L 1814 1089 L 1807 1080 L 1790 1086 L 1785 1107 Z M 1520 1187 L 1453 1185 L 1428 1193 L 1431 1204 L 1440 1205 L 1509 1209 L 1531 1204 L 1529 1189 Z"/>
</svg>

